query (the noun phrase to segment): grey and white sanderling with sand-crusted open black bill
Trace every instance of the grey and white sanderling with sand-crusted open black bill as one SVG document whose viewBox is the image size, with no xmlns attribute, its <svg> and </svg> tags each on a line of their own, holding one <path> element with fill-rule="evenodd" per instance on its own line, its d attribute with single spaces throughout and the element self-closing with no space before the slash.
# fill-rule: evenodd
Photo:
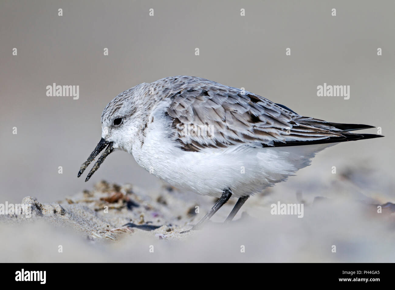
<svg viewBox="0 0 395 290">
<path fill-rule="evenodd" d="M 303 117 L 211 80 L 167 77 L 130 88 L 105 107 L 102 139 L 78 177 L 104 148 L 85 181 L 107 155 L 124 150 L 175 187 L 219 197 L 197 229 L 234 196 L 231 221 L 250 195 L 294 175 L 328 146 L 383 137 L 349 133 L 367 128 L 373 126 Z"/>
</svg>

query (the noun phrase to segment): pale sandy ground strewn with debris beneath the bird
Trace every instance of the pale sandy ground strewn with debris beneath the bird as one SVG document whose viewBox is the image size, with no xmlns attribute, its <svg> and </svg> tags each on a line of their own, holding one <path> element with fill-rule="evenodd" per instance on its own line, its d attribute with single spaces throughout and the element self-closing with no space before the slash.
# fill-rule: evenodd
<svg viewBox="0 0 395 290">
<path fill-rule="evenodd" d="M 26 196 L 30 218 L 0 215 L 1 262 L 394 262 L 395 205 L 376 187 L 361 189 L 358 170 L 269 188 L 224 225 L 231 199 L 203 230 L 187 234 L 180 232 L 215 198 L 105 181 L 49 204 Z M 303 218 L 272 215 L 278 201 L 303 203 Z"/>
</svg>

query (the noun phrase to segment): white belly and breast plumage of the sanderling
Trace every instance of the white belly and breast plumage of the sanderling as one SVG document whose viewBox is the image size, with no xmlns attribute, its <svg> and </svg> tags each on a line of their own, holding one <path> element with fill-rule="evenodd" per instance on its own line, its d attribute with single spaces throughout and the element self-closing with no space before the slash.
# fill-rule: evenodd
<svg viewBox="0 0 395 290">
<path fill-rule="evenodd" d="M 139 165 L 167 183 L 202 195 L 253 195 L 286 180 L 310 164 L 315 153 L 333 144 L 253 148 L 248 145 L 187 152 L 177 148 L 163 129 L 147 130 L 143 146 L 132 155 Z"/>
</svg>

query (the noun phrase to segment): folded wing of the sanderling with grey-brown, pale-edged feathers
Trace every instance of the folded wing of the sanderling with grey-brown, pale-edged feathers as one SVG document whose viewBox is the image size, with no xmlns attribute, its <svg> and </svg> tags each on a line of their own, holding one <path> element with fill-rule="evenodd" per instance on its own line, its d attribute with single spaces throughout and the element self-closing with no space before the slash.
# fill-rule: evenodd
<svg viewBox="0 0 395 290">
<path fill-rule="evenodd" d="M 342 136 L 342 130 L 323 120 L 300 116 L 259 95 L 210 80 L 188 78 L 173 79 L 173 93 L 167 96 L 171 98 L 167 114 L 184 150 L 238 143 L 273 146 L 273 142 Z M 198 127 L 207 128 L 207 132 L 199 133 Z"/>
</svg>

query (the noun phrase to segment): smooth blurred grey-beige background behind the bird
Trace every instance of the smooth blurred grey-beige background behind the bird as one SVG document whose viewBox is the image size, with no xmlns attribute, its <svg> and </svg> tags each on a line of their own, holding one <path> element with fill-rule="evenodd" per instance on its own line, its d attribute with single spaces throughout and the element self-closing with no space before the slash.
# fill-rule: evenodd
<svg viewBox="0 0 395 290">
<path fill-rule="evenodd" d="M 298 175 L 314 179 L 320 161 L 362 162 L 373 172 L 364 178 L 394 201 L 393 11 L 393 1 L 1 0 L 0 202 L 26 195 L 50 202 L 100 179 L 154 190 L 160 181 L 126 152 L 107 158 L 89 183 L 77 172 L 100 139 L 105 105 L 173 75 L 244 87 L 304 116 L 381 126 L 386 138 L 329 148 Z M 47 97 L 53 82 L 79 85 L 79 99 Z M 350 85 L 350 99 L 317 97 L 324 82 Z"/>
</svg>

